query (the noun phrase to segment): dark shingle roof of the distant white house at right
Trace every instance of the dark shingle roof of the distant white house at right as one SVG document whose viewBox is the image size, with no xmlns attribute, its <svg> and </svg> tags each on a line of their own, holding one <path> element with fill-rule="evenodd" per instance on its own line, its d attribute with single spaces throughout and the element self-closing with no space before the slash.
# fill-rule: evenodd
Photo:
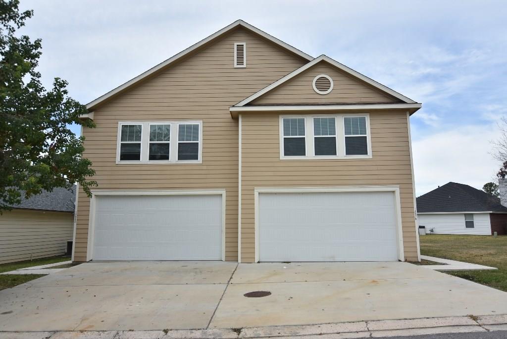
<svg viewBox="0 0 507 339">
<path fill-rule="evenodd" d="M 417 198 L 417 212 L 507 212 L 500 198 L 477 188 L 447 183 Z"/>
</svg>

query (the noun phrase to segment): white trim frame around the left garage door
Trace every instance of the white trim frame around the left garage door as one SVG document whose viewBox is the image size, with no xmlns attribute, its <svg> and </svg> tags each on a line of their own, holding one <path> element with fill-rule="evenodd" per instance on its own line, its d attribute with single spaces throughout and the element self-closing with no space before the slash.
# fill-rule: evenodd
<svg viewBox="0 0 507 339">
<path fill-rule="evenodd" d="M 90 199 L 90 215 L 88 219 L 88 244 L 86 261 L 93 258 L 93 232 L 95 230 L 96 196 L 142 196 L 142 195 L 222 195 L 222 261 L 225 261 L 225 218 L 226 218 L 226 190 L 224 189 L 185 189 L 185 190 L 92 190 Z"/>
</svg>

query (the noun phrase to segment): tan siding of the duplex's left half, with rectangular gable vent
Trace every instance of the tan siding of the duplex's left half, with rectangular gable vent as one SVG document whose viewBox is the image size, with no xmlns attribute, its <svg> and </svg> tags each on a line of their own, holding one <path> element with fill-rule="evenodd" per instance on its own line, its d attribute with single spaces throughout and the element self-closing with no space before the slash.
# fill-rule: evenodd
<svg viewBox="0 0 507 339">
<path fill-rule="evenodd" d="M 234 67 L 234 43 L 245 42 L 247 67 Z M 117 96 L 84 128 L 84 156 L 98 189 L 226 189 L 226 260 L 238 249 L 238 120 L 229 107 L 305 64 L 278 46 L 234 30 L 184 61 Z M 119 121 L 202 120 L 202 164 L 117 165 Z M 86 260 L 90 199 L 79 192 L 75 260 Z"/>
</svg>

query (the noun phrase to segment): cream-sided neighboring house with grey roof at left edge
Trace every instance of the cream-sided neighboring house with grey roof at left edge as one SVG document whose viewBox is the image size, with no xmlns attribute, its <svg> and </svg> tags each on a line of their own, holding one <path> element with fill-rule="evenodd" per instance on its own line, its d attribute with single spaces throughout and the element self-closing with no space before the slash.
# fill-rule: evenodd
<svg viewBox="0 0 507 339">
<path fill-rule="evenodd" d="M 22 195 L 24 193 L 22 192 Z M 73 238 L 76 185 L 23 199 L 0 215 L 0 263 L 63 255 Z"/>
</svg>

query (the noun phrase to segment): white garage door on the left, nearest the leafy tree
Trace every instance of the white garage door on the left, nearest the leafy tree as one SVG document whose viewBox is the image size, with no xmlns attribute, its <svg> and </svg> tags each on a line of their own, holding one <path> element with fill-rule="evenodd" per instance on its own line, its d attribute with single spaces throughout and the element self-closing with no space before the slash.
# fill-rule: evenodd
<svg viewBox="0 0 507 339">
<path fill-rule="evenodd" d="M 95 199 L 93 260 L 222 259 L 222 195 Z"/>
</svg>

